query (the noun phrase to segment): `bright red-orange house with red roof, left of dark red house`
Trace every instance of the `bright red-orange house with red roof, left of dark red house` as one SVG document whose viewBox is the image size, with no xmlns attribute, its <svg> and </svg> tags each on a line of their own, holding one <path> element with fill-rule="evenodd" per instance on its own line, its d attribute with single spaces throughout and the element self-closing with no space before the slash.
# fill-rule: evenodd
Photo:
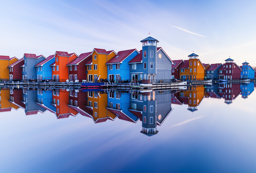
<svg viewBox="0 0 256 173">
<path fill-rule="evenodd" d="M 52 80 L 56 82 L 64 82 L 69 79 L 69 70 L 67 64 L 76 59 L 75 53 L 67 53 L 56 51 L 54 54 L 55 63 L 52 66 Z"/>
</svg>

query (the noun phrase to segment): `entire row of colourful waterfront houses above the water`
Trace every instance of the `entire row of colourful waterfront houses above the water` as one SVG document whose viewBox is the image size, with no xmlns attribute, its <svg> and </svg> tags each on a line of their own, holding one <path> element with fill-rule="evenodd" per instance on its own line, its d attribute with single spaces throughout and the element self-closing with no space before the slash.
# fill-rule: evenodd
<svg viewBox="0 0 256 173">
<path fill-rule="evenodd" d="M 255 71 L 249 63 L 242 66 L 226 59 L 224 64 L 204 64 L 195 53 L 188 60 L 171 60 L 157 39 L 147 37 L 142 50 L 106 51 L 94 48 L 91 52 L 67 53 L 56 51 L 48 56 L 25 53 L 21 59 L 0 56 L 0 78 L 3 80 L 38 80 L 98 82 L 100 79 L 117 82 L 159 83 L 173 79 L 232 80 L 254 78 Z"/>
</svg>

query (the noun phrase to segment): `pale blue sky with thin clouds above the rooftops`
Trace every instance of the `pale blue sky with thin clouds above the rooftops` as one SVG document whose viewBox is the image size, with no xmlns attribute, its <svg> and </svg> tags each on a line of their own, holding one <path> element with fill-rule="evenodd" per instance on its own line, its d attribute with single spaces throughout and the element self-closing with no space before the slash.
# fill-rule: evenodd
<svg viewBox="0 0 256 173">
<path fill-rule="evenodd" d="M 0 55 L 142 49 L 159 41 L 172 60 L 256 66 L 256 1 L 0 0 Z M 150 34 L 149 34 L 150 33 Z"/>
</svg>

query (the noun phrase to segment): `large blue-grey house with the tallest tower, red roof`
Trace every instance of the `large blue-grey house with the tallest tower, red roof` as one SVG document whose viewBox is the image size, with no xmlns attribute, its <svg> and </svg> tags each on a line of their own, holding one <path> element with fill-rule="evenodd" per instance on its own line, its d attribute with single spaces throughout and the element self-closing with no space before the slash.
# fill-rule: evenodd
<svg viewBox="0 0 256 173">
<path fill-rule="evenodd" d="M 140 42 L 142 51 L 129 61 L 130 78 L 142 80 L 142 83 L 170 82 L 173 62 L 161 47 L 157 47 L 159 41 L 147 37 Z"/>
</svg>

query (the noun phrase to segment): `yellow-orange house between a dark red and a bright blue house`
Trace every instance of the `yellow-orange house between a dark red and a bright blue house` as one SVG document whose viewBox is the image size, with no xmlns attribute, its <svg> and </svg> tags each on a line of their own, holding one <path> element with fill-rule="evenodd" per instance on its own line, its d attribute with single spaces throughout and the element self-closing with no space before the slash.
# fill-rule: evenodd
<svg viewBox="0 0 256 173">
<path fill-rule="evenodd" d="M 89 82 L 98 82 L 99 79 L 107 78 L 107 65 L 109 59 L 116 56 L 115 51 L 106 51 L 105 49 L 96 49 L 92 51 L 92 60 L 85 63 L 87 66 L 87 79 Z"/>
</svg>

